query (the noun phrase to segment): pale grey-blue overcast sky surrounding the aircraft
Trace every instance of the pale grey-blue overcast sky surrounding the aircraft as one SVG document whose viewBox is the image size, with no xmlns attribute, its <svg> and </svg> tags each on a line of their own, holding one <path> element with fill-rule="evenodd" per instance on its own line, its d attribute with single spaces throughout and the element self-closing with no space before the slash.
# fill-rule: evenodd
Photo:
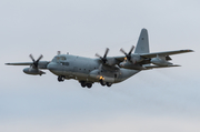
<svg viewBox="0 0 200 132">
<path fill-rule="evenodd" d="M 199 29 L 197 0 L 0 1 L 0 131 L 2 132 L 199 132 Z M 192 49 L 173 55 L 181 68 L 143 71 L 110 89 L 57 77 L 32 77 L 29 54 L 51 60 L 57 51 L 94 58 L 110 48 L 136 45 L 142 28 L 150 50 Z"/>
</svg>

